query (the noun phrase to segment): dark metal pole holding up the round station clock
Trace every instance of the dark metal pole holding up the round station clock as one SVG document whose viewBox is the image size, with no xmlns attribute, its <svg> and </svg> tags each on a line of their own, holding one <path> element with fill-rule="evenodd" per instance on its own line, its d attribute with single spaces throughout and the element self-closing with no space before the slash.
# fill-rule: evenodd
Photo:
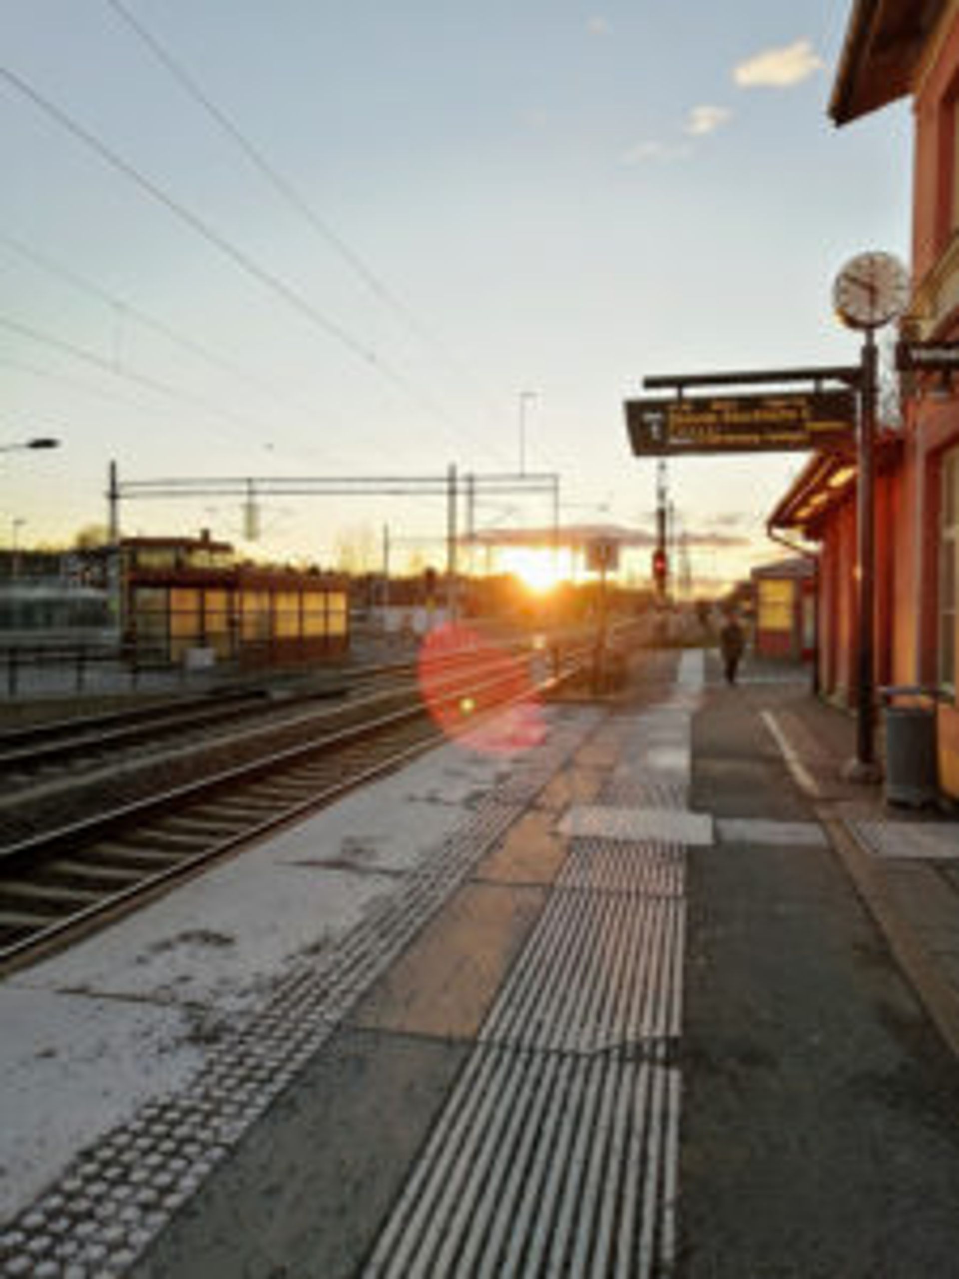
<svg viewBox="0 0 959 1279">
<path fill-rule="evenodd" d="M 873 780 L 876 767 L 876 330 L 866 330 L 862 345 L 859 380 L 859 431 L 857 481 L 857 560 L 858 577 L 858 643 L 857 643 L 857 715 L 855 761 L 853 774 L 859 780 Z"/>
</svg>

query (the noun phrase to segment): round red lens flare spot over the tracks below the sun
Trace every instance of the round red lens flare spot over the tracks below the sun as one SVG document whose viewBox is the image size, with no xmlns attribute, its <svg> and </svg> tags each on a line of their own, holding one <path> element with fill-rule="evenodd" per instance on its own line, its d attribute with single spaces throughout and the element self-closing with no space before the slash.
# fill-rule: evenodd
<svg viewBox="0 0 959 1279">
<path fill-rule="evenodd" d="M 469 746 L 488 755 L 531 749 L 542 742 L 546 728 L 528 660 L 471 627 L 450 623 L 430 632 L 417 665 L 419 693 L 446 737 L 469 733 Z M 503 703 L 509 706 L 501 714 L 477 725 L 478 716 Z"/>
</svg>

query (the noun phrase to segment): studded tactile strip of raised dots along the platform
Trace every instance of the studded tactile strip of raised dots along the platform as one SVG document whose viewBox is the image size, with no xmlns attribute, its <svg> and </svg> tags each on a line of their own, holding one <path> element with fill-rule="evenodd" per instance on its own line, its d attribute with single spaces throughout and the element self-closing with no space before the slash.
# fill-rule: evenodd
<svg viewBox="0 0 959 1279">
<path fill-rule="evenodd" d="M 78 1155 L 0 1234 L 4 1279 L 123 1275 L 597 723 L 564 718 L 517 765 L 508 793 L 481 799 L 341 943 L 292 968 L 187 1088 Z"/>
</svg>

